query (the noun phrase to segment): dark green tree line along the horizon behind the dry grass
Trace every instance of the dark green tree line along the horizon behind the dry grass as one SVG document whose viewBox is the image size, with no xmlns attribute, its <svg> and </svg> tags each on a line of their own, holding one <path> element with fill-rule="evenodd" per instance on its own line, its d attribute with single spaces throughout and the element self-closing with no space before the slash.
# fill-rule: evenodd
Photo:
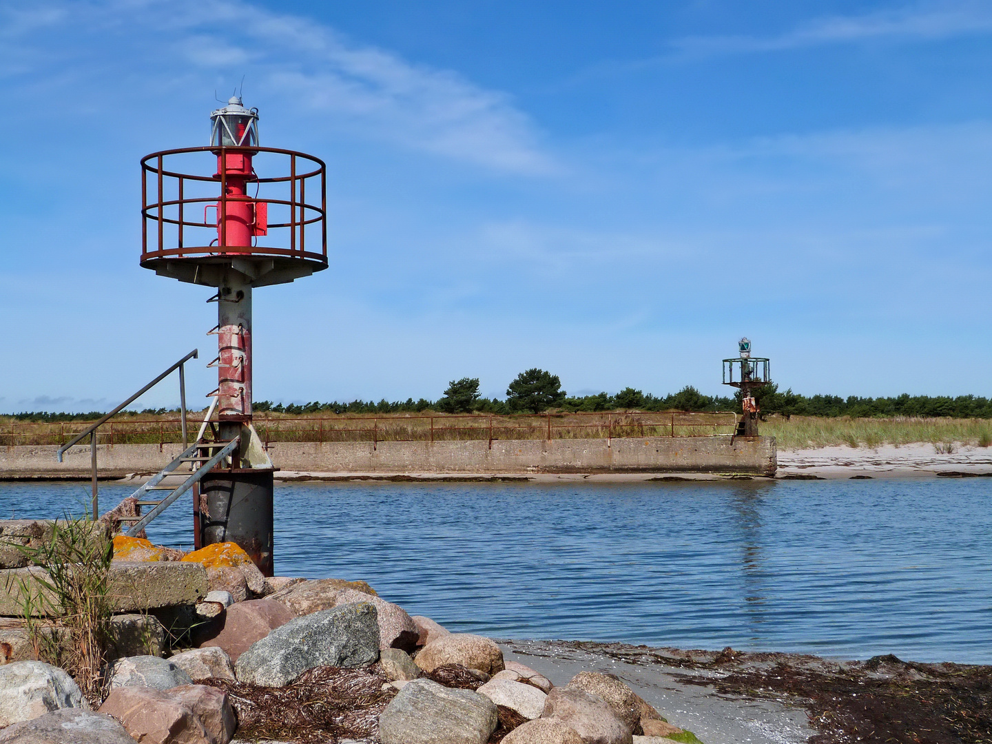
<svg viewBox="0 0 992 744">
<path fill-rule="evenodd" d="M 763 418 L 779 414 L 791 416 L 818 416 L 835 418 L 891 418 L 920 417 L 955 419 L 992 419 L 992 400 L 973 395 L 955 398 L 948 396 L 911 396 L 908 393 L 891 398 L 861 398 L 835 395 L 805 396 L 792 389 L 780 391 L 775 383 L 755 391 L 755 398 Z M 632 387 L 621 390 L 616 395 L 596 393 L 595 395 L 569 396 L 561 389 L 561 380 L 542 369 L 529 369 L 517 375 L 506 390 L 506 398 L 483 398 L 479 395 L 479 378 L 463 377 L 452 380 L 440 398 L 430 401 L 421 398 L 415 401 L 350 401 L 306 404 L 282 404 L 272 401 L 256 401 L 253 408 L 258 413 L 273 412 L 303 416 L 306 414 L 399 414 L 424 413 L 435 411 L 444 414 L 538 414 L 544 411 L 600 412 L 600 411 L 690 411 L 690 412 L 739 412 L 741 395 L 733 397 L 708 396 L 687 385 L 678 393 L 655 396 Z M 122 412 L 125 413 L 125 412 Z M 126 412 L 135 415 L 137 412 Z M 179 409 L 145 409 L 140 414 L 164 415 L 179 413 Z M 14 419 L 45 423 L 71 421 L 92 421 L 102 416 L 102 412 L 88 414 L 53 413 L 32 411 L 11 414 Z"/>
</svg>

